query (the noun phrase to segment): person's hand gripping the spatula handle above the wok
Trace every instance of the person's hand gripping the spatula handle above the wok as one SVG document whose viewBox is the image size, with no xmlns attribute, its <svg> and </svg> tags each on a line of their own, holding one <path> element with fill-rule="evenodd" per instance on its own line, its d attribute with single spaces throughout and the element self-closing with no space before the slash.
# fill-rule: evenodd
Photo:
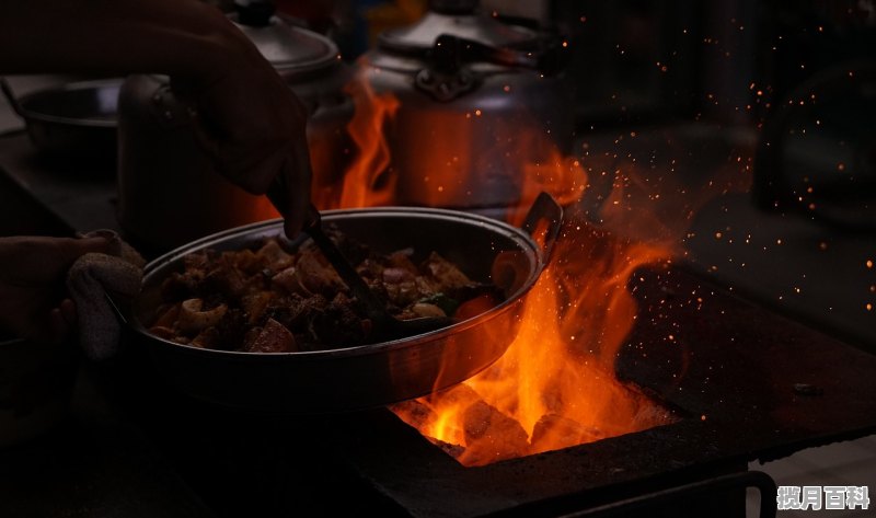
<svg viewBox="0 0 876 518">
<path fill-rule="evenodd" d="M 233 42 L 215 74 L 174 77 L 172 85 L 194 108 L 196 137 L 223 176 L 252 194 L 275 182 L 285 191 L 288 206 L 277 209 L 293 238 L 310 205 L 307 108 L 243 34 Z"/>
</svg>

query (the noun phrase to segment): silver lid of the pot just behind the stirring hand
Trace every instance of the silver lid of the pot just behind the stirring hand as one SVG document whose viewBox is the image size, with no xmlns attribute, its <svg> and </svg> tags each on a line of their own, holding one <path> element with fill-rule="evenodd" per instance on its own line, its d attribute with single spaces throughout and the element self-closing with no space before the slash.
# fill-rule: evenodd
<svg viewBox="0 0 876 518">
<path fill-rule="evenodd" d="M 281 76 L 312 72 L 337 62 L 334 42 L 275 15 L 273 2 L 239 0 L 235 8 L 237 12 L 229 15 L 231 21 Z"/>
</svg>

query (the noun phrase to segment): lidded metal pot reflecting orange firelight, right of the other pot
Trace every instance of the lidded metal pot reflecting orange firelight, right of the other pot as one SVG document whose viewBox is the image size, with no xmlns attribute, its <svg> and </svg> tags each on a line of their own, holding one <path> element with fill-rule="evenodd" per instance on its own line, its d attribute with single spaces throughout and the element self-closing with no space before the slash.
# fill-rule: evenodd
<svg viewBox="0 0 876 518">
<path fill-rule="evenodd" d="M 566 46 L 477 3 L 430 1 L 359 64 L 376 94 L 399 100 L 385 133 L 400 205 L 518 207 L 527 168 L 572 151 Z"/>
</svg>

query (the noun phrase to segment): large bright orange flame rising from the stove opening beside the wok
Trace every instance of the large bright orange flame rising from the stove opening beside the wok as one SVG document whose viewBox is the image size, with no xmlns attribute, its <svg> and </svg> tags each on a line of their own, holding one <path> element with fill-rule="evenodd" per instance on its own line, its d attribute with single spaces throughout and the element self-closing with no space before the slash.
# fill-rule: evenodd
<svg viewBox="0 0 876 518">
<path fill-rule="evenodd" d="M 637 267 L 667 261 L 669 249 L 612 240 L 586 226 L 567 229 L 557 244 L 520 332 L 496 364 L 447 392 L 393 407 L 425 436 L 458 445 L 465 465 L 671 421 L 612 370 L 636 315 L 626 281 Z"/>
</svg>

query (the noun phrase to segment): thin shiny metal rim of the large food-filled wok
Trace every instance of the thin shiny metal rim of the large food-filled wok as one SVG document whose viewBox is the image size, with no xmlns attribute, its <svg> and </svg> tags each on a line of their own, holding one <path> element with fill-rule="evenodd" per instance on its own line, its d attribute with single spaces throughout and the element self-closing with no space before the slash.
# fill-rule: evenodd
<svg viewBox="0 0 876 518">
<path fill-rule="evenodd" d="M 132 311 L 131 314 L 131 321 L 132 321 L 131 326 L 136 332 L 146 336 L 147 338 L 155 341 L 165 347 L 174 347 L 180 353 L 214 357 L 214 358 L 233 359 L 238 361 L 240 360 L 321 361 L 335 358 L 350 358 L 359 356 L 379 355 L 379 354 L 385 354 L 388 352 L 393 352 L 396 349 L 412 347 L 415 345 L 425 346 L 430 343 L 440 345 L 443 338 L 448 338 L 453 334 L 463 332 L 476 325 L 482 325 L 499 316 L 500 314 L 510 310 L 515 304 L 520 303 L 523 300 L 523 297 L 532 289 L 532 287 L 541 277 L 541 274 L 546 266 L 546 257 L 544 251 L 542 250 L 541 246 L 539 246 L 535 243 L 535 241 L 526 231 L 517 227 L 514 227 L 511 225 L 508 225 L 504 221 L 499 221 L 476 214 L 463 212 L 450 209 L 440 209 L 440 208 L 399 207 L 399 206 L 354 208 L 354 209 L 332 209 L 332 210 L 321 211 L 321 214 L 322 214 L 322 220 L 325 222 L 332 222 L 332 220 L 335 219 L 353 217 L 357 215 L 365 217 L 379 217 L 381 215 L 385 215 L 395 217 L 397 216 L 431 217 L 431 218 L 441 218 L 441 219 L 451 219 L 456 221 L 461 221 L 465 225 L 481 225 L 489 228 L 489 230 L 492 230 L 493 232 L 503 233 L 505 234 L 505 237 L 511 239 L 515 242 L 518 242 L 521 245 L 521 250 L 523 250 L 525 252 L 532 253 L 532 257 L 534 257 L 534 264 L 530 265 L 531 268 L 526 283 L 523 283 L 522 286 L 518 288 L 514 293 L 508 296 L 502 303 L 491 308 L 489 310 L 471 319 L 449 325 L 447 327 L 441 327 L 428 333 L 423 333 L 406 338 L 399 338 L 389 342 L 380 342 L 377 344 L 364 344 L 349 347 L 302 350 L 293 353 L 247 353 L 241 350 L 206 349 L 200 347 L 193 347 L 186 344 L 177 344 L 176 342 L 161 338 L 150 333 L 149 330 L 145 327 L 145 325 L 140 321 L 140 315 L 136 310 Z M 150 276 L 153 275 L 158 269 L 172 265 L 174 262 L 180 261 L 183 256 L 185 256 L 188 253 L 209 248 L 211 244 L 215 245 L 222 243 L 224 241 L 231 240 L 232 238 L 261 233 L 258 231 L 276 229 L 279 233 L 283 231 L 283 223 L 284 220 L 281 218 L 258 221 L 242 227 L 235 227 L 222 230 L 209 235 L 205 235 L 204 238 L 197 239 L 187 244 L 171 250 L 170 252 L 166 252 L 161 256 L 150 261 L 143 267 L 142 285 L 146 286 L 147 281 L 150 280 Z M 298 239 L 301 239 L 301 237 L 299 237 Z M 134 306 L 135 308 L 137 307 L 136 302 Z"/>
</svg>

